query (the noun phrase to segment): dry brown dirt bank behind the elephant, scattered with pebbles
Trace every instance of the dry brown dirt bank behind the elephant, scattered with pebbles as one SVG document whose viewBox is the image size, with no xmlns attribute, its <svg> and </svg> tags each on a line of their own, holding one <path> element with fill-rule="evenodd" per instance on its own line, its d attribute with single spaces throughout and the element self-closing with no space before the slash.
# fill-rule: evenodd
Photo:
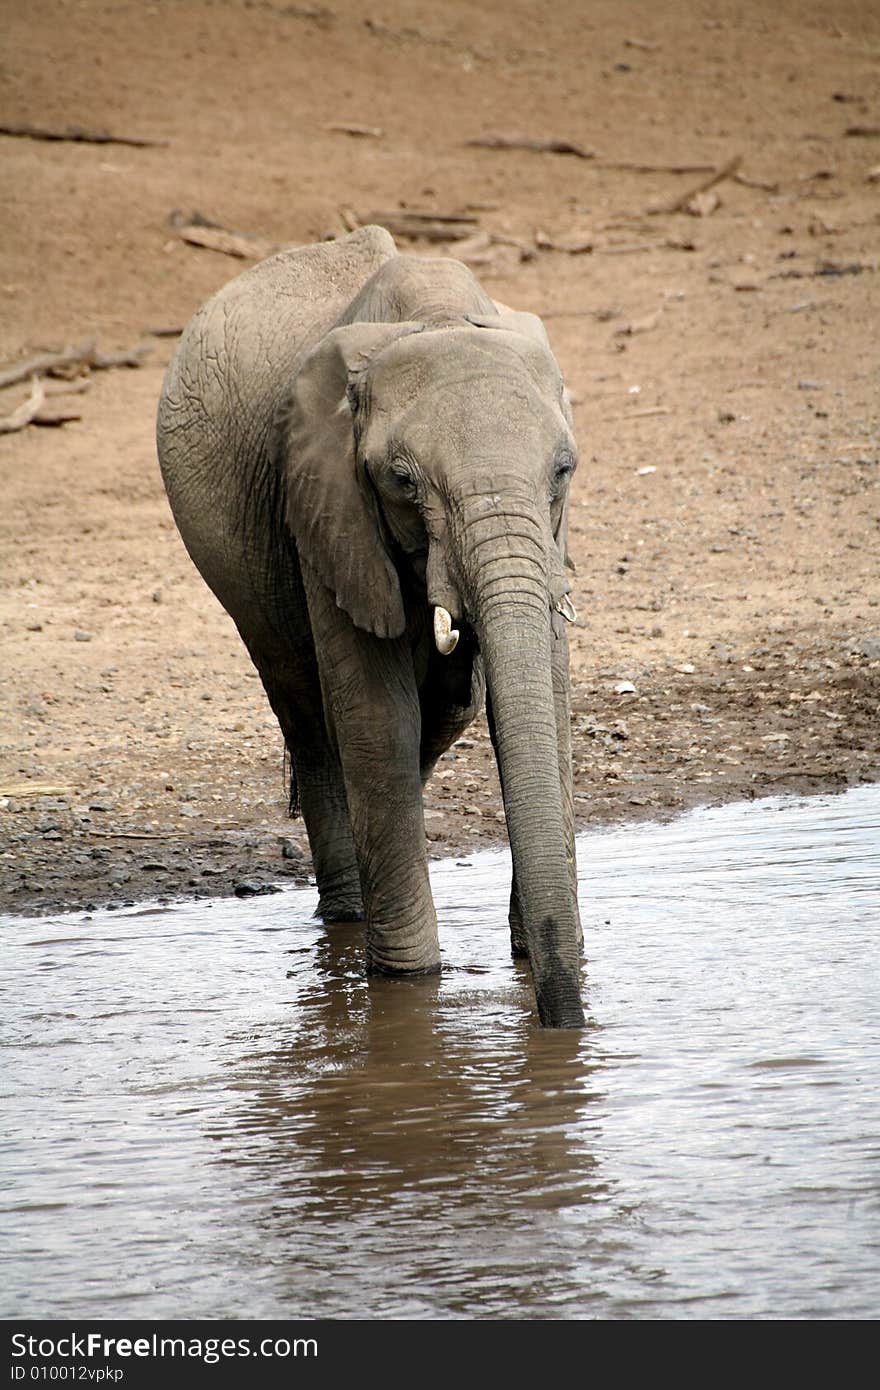
<svg viewBox="0 0 880 1390">
<path fill-rule="evenodd" d="M 544 316 L 581 448 L 581 824 L 880 776 L 877 4 L 3 0 L 0 19 L 0 124 L 156 142 L 0 136 L 0 360 L 152 343 L 61 398 L 79 420 L 0 438 L 1 910 L 307 872 L 278 730 L 154 456 L 174 339 L 147 329 L 246 264 L 185 243 L 193 213 L 277 245 L 470 215 L 459 253 Z M 581 153 L 467 143 L 488 135 Z M 502 837 L 482 726 L 439 764 L 427 833 L 435 853 Z"/>
</svg>

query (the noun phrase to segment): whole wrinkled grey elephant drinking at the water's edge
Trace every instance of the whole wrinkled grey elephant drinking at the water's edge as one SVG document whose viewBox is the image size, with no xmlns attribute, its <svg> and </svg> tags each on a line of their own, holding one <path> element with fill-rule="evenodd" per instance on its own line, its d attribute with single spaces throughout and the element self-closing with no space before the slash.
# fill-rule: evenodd
<svg viewBox="0 0 880 1390">
<path fill-rule="evenodd" d="M 366 917 L 368 970 L 439 969 L 421 787 L 485 695 L 513 949 L 541 1022 L 581 1027 L 555 609 L 576 449 L 541 321 L 377 227 L 282 252 L 189 324 L 158 456 L 281 724 L 324 920 Z M 435 605 L 462 634 L 448 656 Z"/>
</svg>

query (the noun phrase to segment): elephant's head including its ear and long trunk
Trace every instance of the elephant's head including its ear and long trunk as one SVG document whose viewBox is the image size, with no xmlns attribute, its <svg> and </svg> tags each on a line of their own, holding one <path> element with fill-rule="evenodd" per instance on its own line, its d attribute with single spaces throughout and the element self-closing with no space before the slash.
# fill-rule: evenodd
<svg viewBox="0 0 880 1390">
<path fill-rule="evenodd" d="M 441 652 L 473 632 L 513 856 L 512 924 L 541 1020 L 578 1027 L 570 411 L 538 318 L 481 291 L 464 313 L 424 310 L 399 321 L 385 306 L 389 321 L 342 322 L 300 356 L 279 417 L 288 524 L 357 628 L 396 639 L 432 609 Z"/>
</svg>

